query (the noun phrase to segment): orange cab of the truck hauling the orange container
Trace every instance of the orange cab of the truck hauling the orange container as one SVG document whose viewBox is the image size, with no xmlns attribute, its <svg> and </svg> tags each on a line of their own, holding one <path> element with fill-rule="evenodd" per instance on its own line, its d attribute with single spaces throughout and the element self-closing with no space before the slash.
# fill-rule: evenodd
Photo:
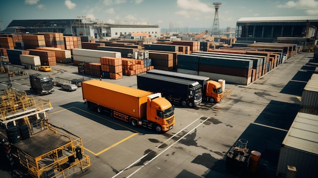
<svg viewBox="0 0 318 178">
<path fill-rule="evenodd" d="M 168 131 L 174 127 L 174 107 L 161 93 L 147 97 L 147 120 L 157 123 L 153 128 L 157 132 Z M 139 123 L 143 125 L 143 123 Z"/>
</svg>

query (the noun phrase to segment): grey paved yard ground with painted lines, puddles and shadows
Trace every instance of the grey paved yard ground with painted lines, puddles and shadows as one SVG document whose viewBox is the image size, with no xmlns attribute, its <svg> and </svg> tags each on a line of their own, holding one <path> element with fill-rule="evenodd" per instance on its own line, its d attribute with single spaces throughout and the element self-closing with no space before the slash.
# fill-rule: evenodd
<svg viewBox="0 0 318 178">
<path fill-rule="evenodd" d="M 67 177 L 275 177 L 280 145 L 299 111 L 302 90 L 318 73 L 312 57 L 299 53 L 248 86 L 226 83 L 232 92 L 219 103 L 176 106 L 175 127 L 163 134 L 88 110 L 81 88 L 68 92 L 55 87 L 52 94 L 38 96 L 29 91 L 28 75 L 11 79 L 14 88 L 29 96 L 49 99 L 49 122 L 82 138 L 91 166 L 84 172 L 75 167 Z M 16 65 L 10 70 L 43 73 Z M 45 74 L 94 79 L 68 64 L 52 66 Z M 136 76 L 102 80 L 137 88 Z M 0 74 L 0 90 L 7 81 Z M 226 165 L 227 153 L 242 138 L 249 152 L 262 154 L 256 172 Z M 5 163 L 0 169 L 1 177 L 23 177 Z"/>
</svg>

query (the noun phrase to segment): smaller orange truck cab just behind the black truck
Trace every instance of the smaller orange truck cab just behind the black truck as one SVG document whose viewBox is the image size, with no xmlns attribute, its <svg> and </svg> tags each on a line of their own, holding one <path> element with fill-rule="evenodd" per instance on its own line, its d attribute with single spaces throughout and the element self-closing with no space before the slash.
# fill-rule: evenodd
<svg viewBox="0 0 318 178">
<path fill-rule="evenodd" d="M 206 83 L 206 100 L 209 102 L 219 102 L 224 96 L 224 91 L 220 83 L 216 81 L 208 81 Z"/>
</svg>

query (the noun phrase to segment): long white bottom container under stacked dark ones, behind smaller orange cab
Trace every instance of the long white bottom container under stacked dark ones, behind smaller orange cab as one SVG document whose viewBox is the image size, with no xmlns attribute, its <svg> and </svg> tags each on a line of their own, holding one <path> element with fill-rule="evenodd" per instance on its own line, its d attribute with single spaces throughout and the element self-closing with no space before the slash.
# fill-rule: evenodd
<svg viewBox="0 0 318 178">
<path fill-rule="evenodd" d="M 229 83 L 239 84 L 239 85 L 248 85 L 250 84 L 251 77 L 238 77 L 230 76 L 225 74 L 216 74 L 216 73 L 207 73 L 199 71 L 199 76 L 206 76 L 211 78 L 211 80 L 218 81 L 218 79 L 225 80 Z"/>
</svg>

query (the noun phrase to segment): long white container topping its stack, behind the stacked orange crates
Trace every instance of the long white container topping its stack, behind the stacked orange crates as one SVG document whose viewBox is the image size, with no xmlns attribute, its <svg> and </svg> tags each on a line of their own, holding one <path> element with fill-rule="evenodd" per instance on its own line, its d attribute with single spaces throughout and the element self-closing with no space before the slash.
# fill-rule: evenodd
<svg viewBox="0 0 318 178">
<path fill-rule="evenodd" d="M 121 58 L 120 52 L 91 50 L 91 49 L 72 49 L 73 57 L 76 56 L 89 56 L 89 57 L 115 57 Z"/>
</svg>

